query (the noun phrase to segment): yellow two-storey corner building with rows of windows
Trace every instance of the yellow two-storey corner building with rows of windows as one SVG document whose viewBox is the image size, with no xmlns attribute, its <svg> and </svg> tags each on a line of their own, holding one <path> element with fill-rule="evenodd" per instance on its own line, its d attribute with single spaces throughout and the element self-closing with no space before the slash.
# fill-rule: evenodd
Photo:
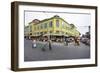
<svg viewBox="0 0 100 73">
<path fill-rule="evenodd" d="M 34 19 L 25 26 L 24 35 L 38 40 L 61 40 L 64 37 L 79 37 L 80 32 L 74 24 L 69 24 L 63 18 L 55 15 L 44 20 Z"/>
</svg>

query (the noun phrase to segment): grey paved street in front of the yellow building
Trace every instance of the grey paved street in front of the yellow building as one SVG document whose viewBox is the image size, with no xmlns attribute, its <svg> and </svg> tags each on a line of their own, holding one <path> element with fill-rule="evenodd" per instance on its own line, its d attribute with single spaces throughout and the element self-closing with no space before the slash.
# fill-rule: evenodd
<svg viewBox="0 0 100 73">
<path fill-rule="evenodd" d="M 41 48 L 46 51 L 42 51 Z M 31 40 L 24 40 L 24 61 L 43 60 L 64 60 L 64 59 L 84 59 L 90 58 L 90 47 L 81 43 L 75 46 L 70 43 L 65 46 L 63 43 L 52 43 L 52 50 L 49 50 L 47 42 L 37 42 L 37 47 L 32 48 Z"/>
</svg>

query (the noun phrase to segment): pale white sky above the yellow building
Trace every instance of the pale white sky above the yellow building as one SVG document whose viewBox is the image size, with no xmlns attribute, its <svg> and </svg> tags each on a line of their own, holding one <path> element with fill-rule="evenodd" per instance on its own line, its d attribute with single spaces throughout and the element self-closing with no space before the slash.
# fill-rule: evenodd
<svg viewBox="0 0 100 73">
<path fill-rule="evenodd" d="M 72 13 L 72 12 L 53 12 L 53 11 L 24 11 L 25 26 L 34 19 L 47 19 L 58 15 L 69 24 L 74 24 L 81 34 L 89 31 L 91 25 L 91 14 L 89 13 Z"/>
</svg>

